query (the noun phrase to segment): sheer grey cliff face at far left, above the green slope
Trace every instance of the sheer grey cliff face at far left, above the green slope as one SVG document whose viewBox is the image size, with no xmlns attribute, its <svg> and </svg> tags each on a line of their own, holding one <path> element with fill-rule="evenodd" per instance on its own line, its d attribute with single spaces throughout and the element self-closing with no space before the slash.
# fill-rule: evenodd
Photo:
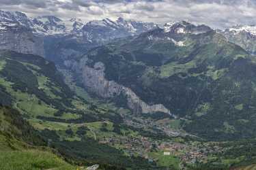
<svg viewBox="0 0 256 170">
<path fill-rule="evenodd" d="M 0 50 L 44 56 L 43 39 L 17 24 L 0 24 Z"/>
</svg>

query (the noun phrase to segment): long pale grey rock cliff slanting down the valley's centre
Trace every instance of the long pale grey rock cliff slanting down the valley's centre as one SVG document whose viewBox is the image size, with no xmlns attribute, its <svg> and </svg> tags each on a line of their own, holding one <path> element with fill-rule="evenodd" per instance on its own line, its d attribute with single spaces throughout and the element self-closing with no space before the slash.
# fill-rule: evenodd
<svg viewBox="0 0 256 170">
<path fill-rule="evenodd" d="M 85 59 L 86 60 L 86 59 Z M 83 76 L 83 84 L 85 88 L 91 92 L 95 92 L 98 96 L 104 98 L 113 98 L 119 95 L 124 95 L 127 99 L 127 105 L 135 114 L 151 114 L 154 112 L 163 112 L 171 114 L 169 109 L 164 105 L 148 105 L 142 101 L 130 88 L 117 84 L 114 81 L 109 81 L 104 78 L 104 64 L 96 63 L 94 67 L 85 65 L 83 61 L 80 65 Z"/>
</svg>

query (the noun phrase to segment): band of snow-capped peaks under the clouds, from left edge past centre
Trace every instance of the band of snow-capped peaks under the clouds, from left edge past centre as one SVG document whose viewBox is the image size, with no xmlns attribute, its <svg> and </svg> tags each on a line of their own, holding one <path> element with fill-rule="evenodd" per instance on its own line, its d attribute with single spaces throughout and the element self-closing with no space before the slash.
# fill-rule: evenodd
<svg viewBox="0 0 256 170">
<path fill-rule="evenodd" d="M 5 12 L 1 10 L 0 22 L 1 29 L 3 29 L 3 25 L 18 24 L 30 29 L 37 35 L 74 35 L 74 37 L 87 37 L 86 39 L 90 41 L 93 37 L 98 37 L 98 35 L 102 35 L 103 39 L 106 37 L 108 37 L 106 39 L 113 39 L 138 35 L 155 27 L 154 23 L 137 22 L 125 20 L 124 18 L 117 18 L 117 20 L 105 18 L 86 23 L 79 18 L 71 18 L 69 20 L 62 20 L 56 16 L 28 18 L 22 12 Z"/>
</svg>

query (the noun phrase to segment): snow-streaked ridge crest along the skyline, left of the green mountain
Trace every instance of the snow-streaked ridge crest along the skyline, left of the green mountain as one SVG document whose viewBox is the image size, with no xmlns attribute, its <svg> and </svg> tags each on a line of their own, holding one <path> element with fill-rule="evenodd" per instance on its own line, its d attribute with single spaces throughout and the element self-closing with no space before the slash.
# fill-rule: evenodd
<svg viewBox="0 0 256 170">
<path fill-rule="evenodd" d="M 72 33 L 79 35 L 81 31 L 83 31 L 83 27 L 94 26 L 111 27 L 112 29 L 122 29 L 123 31 L 126 31 L 126 33 L 139 34 L 143 30 L 152 29 L 152 27 L 154 27 L 154 24 L 150 22 L 128 21 L 123 18 L 117 18 L 117 20 L 110 20 L 109 18 L 106 18 L 103 20 L 83 22 L 79 18 L 61 20 L 56 16 L 38 16 L 36 18 L 29 18 L 22 12 L 5 11 L 0 12 L 0 22 L 20 24 L 23 25 L 23 27 L 31 29 L 33 33 L 39 35 L 68 35 Z"/>
</svg>

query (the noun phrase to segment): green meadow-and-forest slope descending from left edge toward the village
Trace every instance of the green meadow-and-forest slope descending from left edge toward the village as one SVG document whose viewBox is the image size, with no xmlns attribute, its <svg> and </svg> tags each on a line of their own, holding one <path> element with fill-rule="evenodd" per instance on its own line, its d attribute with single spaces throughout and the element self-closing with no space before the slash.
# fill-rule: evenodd
<svg viewBox="0 0 256 170">
<path fill-rule="evenodd" d="M 139 156 L 98 143 L 132 130 L 119 126 L 123 119 L 114 109 L 75 95 L 53 63 L 10 51 L 0 52 L 0 63 L 1 103 L 17 109 L 67 160 L 76 165 L 100 164 L 102 169 L 151 166 Z"/>
</svg>

